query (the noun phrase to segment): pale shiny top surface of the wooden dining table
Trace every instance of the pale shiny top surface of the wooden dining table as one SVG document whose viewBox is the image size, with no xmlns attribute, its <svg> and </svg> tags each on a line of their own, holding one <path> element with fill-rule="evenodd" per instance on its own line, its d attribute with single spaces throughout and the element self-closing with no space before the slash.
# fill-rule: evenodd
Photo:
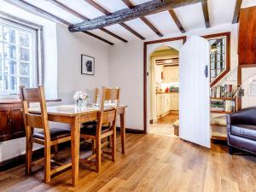
<svg viewBox="0 0 256 192">
<path fill-rule="evenodd" d="M 119 105 L 119 108 L 126 108 L 125 105 Z M 106 109 L 111 108 L 111 106 L 106 106 Z M 28 111 L 30 113 L 40 113 L 40 108 L 29 108 Z M 79 116 L 90 113 L 97 113 L 99 111 L 98 107 L 85 107 L 79 108 L 76 105 L 58 105 L 58 106 L 49 106 L 47 107 L 48 114 L 61 115 L 61 116 Z"/>
</svg>

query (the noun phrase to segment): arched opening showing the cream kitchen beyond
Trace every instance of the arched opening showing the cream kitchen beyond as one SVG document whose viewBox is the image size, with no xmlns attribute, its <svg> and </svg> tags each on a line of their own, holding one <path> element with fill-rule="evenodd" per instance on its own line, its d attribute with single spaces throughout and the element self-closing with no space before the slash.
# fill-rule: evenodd
<svg viewBox="0 0 256 192">
<path fill-rule="evenodd" d="M 175 136 L 178 121 L 179 88 L 178 50 L 161 45 L 150 55 L 150 126 L 149 132 Z"/>
</svg>

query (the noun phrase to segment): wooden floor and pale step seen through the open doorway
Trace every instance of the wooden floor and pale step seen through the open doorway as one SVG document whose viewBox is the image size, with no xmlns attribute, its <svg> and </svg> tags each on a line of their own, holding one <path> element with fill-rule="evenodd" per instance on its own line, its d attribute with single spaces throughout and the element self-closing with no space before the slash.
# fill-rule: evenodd
<svg viewBox="0 0 256 192">
<path fill-rule="evenodd" d="M 175 137 L 173 123 L 178 119 L 178 113 L 172 112 L 157 120 L 156 123 L 150 125 L 150 133 Z"/>
</svg>

